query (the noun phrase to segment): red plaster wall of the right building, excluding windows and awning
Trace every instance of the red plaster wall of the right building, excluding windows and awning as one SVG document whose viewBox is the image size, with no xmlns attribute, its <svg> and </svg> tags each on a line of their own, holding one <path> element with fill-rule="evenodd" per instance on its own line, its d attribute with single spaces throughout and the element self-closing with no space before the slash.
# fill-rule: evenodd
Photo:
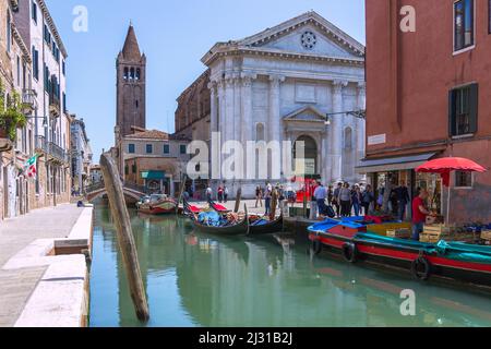
<svg viewBox="0 0 491 349">
<path fill-rule="evenodd" d="M 488 1 L 477 0 L 476 47 L 453 47 L 453 0 L 367 0 L 367 135 L 386 143 L 367 146 L 369 157 L 442 149 L 491 169 L 491 35 Z M 398 12 L 416 9 L 416 33 L 403 33 Z M 448 136 L 448 91 L 479 84 L 478 132 L 466 141 Z M 456 190 L 458 220 L 491 221 L 491 173 L 477 174 L 474 190 Z M 464 200 L 465 198 L 465 200 Z M 455 204 L 455 206 L 454 206 Z M 468 217 L 468 218 L 466 218 Z"/>
</svg>

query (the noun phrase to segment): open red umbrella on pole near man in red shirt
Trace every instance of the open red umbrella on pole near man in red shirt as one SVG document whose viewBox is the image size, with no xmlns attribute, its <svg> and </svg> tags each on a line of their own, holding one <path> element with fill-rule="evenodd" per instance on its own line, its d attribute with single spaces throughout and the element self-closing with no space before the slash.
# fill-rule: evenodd
<svg viewBox="0 0 491 349">
<path fill-rule="evenodd" d="M 417 172 L 440 173 L 442 176 L 443 185 L 448 188 L 448 200 L 446 209 L 446 221 L 450 217 L 450 174 L 452 171 L 465 172 L 486 172 L 486 168 L 472 160 L 462 157 L 443 157 L 440 159 L 428 161 L 416 169 Z"/>
</svg>

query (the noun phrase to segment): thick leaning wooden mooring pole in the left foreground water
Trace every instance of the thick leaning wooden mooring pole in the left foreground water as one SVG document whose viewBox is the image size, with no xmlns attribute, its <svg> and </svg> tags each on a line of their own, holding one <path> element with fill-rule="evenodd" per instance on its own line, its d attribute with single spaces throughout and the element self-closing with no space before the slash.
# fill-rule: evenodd
<svg viewBox="0 0 491 349">
<path fill-rule="evenodd" d="M 142 322 L 147 322 L 149 318 L 148 303 L 146 301 L 145 288 L 143 287 L 130 215 L 128 214 L 124 202 L 123 188 L 119 178 L 118 168 L 109 154 L 103 154 L 100 156 L 100 169 L 109 198 L 109 206 L 115 219 L 118 244 L 130 286 L 131 299 L 133 300 L 137 318 Z"/>
</svg>

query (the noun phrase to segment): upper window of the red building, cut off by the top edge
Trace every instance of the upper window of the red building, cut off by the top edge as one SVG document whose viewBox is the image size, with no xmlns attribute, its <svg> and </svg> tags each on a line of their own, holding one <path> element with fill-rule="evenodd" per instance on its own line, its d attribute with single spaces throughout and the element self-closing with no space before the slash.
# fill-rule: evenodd
<svg viewBox="0 0 491 349">
<path fill-rule="evenodd" d="M 454 50 L 474 45 L 474 0 L 454 2 Z"/>
</svg>

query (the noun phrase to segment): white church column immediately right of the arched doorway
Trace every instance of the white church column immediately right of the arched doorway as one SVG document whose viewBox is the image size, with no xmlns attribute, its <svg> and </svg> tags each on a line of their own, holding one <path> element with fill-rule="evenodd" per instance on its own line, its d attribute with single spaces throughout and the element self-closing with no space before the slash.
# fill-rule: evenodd
<svg viewBox="0 0 491 349">
<path fill-rule="evenodd" d="M 332 143 L 331 143 L 331 158 L 332 158 L 332 172 L 331 179 L 333 181 L 343 180 L 343 124 L 345 115 L 338 115 L 343 112 L 343 88 L 348 85 L 345 81 L 333 81 L 333 113 L 331 118 L 332 127 Z"/>
</svg>

